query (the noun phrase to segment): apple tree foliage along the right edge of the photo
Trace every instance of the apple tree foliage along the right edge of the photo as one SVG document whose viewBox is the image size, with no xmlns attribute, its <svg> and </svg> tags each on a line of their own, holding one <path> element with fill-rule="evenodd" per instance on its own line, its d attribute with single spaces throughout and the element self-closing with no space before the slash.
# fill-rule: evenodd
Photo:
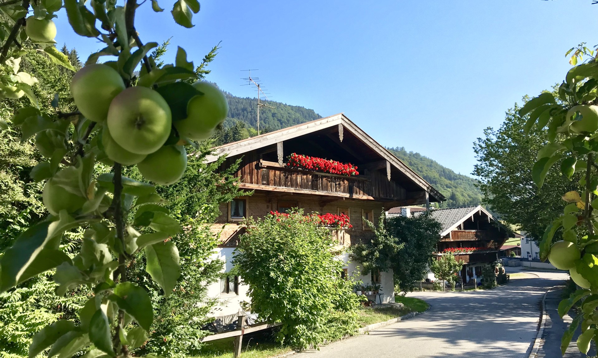
<svg viewBox="0 0 598 358">
<path fill-rule="evenodd" d="M 581 178 L 578 184 L 582 189 L 560 193 L 568 204 L 562 215 L 548 225 L 539 244 L 541 259 L 568 270 L 580 287 L 559 304 L 562 317 L 581 302 L 581 313 L 563 334 L 563 354 L 579 326 L 582 333 L 577 347 L 582 353 L 587 353 L 591 340 L 598 335 L 598 60 L 593 57 L 594 51 L 583 44 L 568 54 L 572 51 L 573 68 L 566 74 L 557 96 L 542 93 L 518 112 L 520 116 L 529 115 L 524 126 L 526 133 L 536 126 L 548 137 L 532 169 L 535 183 L 541 187 L 548 170 L 556 164 L 566 178 Z M 578 64 L 584 54 L 589 57 Z M 580 175 L 573 176 L 574 173 Z M 562 240 L 553 243 L 557 231 Z"/>
</svg>

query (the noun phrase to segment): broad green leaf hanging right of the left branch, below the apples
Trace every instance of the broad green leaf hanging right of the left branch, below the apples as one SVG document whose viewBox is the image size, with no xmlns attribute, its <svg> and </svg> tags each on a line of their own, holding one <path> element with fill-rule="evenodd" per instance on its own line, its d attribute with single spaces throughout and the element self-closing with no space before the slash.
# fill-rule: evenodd
<svg viewBox="0 0 598 358">
<path fill-rule="evenodd" d="M 162 287 L 168 297 L 181 276 L 179 250 L 172 241 L 155 243 L 145 247 L 147 265 L 145 271 Z"/>
</svg>

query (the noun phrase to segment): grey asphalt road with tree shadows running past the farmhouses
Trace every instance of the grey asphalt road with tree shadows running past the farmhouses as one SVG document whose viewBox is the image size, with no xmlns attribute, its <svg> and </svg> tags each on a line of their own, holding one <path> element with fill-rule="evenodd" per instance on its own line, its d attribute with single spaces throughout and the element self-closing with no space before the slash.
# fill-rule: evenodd
<svg viewBox="0 0 598 358">
<path fill-rule="evenodd" d="M 431 304 L 430 310 L 297 358 L 527 358 L 542 296 L 566 279 L 562 273 L 533 274 L 493 290 L 410 294 Z"/>
</svg>

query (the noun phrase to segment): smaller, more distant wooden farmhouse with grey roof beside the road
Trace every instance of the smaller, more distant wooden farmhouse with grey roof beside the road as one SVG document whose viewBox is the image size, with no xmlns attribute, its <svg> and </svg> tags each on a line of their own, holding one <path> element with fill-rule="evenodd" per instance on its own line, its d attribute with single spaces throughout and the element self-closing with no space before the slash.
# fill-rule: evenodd
<svg viewBox="0 0 598 358">
<path fill-rule="evenodd" d="M 480 281 L 482 266 L 498 260 L 507 238 L 515 237 L 481 206 L 438 209 L 431 215 L 442 225 L 437 258 L 454 255 L 457 261 L 463 261 L 461 277 L 465 283 Z"/>
</svg>

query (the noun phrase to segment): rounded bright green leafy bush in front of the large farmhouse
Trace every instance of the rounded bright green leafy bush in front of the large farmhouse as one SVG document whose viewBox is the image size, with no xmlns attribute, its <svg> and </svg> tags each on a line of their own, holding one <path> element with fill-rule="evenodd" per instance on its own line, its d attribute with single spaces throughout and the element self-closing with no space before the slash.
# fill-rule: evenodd
<svg viewBox="0 0 598 358">
<path fill-rule="evenodd" d="M 249 285 L 251 311 L 282 322 L 281 344 L 306 349 L 355 333 L 359 299 L 343 263 L 330 249 L 330 232 L 303 212 L 249 219 L 240 238 L 234 270 Z"/>
</svg>

